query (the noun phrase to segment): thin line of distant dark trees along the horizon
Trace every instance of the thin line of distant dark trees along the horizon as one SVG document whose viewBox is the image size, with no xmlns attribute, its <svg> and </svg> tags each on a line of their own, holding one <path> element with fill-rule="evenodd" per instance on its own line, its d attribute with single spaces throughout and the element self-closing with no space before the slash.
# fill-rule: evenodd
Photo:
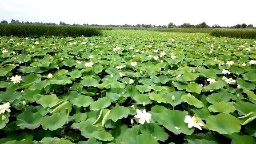
<svg viewBox="0 0 256 144">
<path fill-rule="evenodd" d="M 8 24 L 8 21 L 2 20 L 1 24 Z M 130 24 L 124 24 L 124 25 L 100 25 L 100 24 L 66 24 L 62 21 L 60 21 L 60 24 L 55 23 L 42 23 L 42 22 L 20 22 L 19 20 L 11 20 L 9 24 L 42 24 L 42 25 L 62 25 L 62 26 L 102 26 L 102 27 L 141 27 L 141 28 L 253 28 L 252 24 L 236 24 L 232 27 L 221 27 L 218 24 L 213 25 L 212 27 L 207 25 L 205 22 L 200 24 L 190 24 L 190 23 L 184 23 L 181 25 L 175 25 L 172 22 L 168 25 L 152 25 L 152 24 L 136 24 L 136 25 L 130 25 Z"/>
</svg>

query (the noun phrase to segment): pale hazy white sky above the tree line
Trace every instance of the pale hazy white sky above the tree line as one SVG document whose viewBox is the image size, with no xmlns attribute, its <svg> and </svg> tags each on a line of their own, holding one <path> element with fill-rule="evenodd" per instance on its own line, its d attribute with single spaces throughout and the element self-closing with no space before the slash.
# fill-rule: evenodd
<svg viewBox="0 0 256 144">
<path fill-rule="evenodd" d="M 253 24 L 256 0 L 0 0 L 0 21 L 59 24 Z"/>
</svg>

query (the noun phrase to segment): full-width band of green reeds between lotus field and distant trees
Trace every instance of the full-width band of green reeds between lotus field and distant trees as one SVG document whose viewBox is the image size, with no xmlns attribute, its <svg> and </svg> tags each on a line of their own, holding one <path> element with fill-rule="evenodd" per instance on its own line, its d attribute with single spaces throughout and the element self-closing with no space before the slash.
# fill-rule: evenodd
<svg viewBox="0 0 256 144">
<path fill-rule="evenodd" d="M 64 26 L 42 24 L 0 24 L 0 36 L 50 37 L 50 36 L 103 36 L 102 30 L 152 30 L 159 32 L 208 33 L 216 37 L 256 39 L 256 28 L 144 28 L 111 26 Z"/>
</svg>

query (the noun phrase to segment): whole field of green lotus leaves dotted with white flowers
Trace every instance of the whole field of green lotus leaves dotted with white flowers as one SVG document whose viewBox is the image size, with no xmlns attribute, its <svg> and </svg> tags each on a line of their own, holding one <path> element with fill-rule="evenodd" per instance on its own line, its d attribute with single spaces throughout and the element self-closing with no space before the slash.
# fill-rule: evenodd
<svg viewBox="0 0 256 144">
<path fill-rule="evenodd" d="M 0 37 L 2 144 L 255 144 L 256 40 Z"/>
</svg>

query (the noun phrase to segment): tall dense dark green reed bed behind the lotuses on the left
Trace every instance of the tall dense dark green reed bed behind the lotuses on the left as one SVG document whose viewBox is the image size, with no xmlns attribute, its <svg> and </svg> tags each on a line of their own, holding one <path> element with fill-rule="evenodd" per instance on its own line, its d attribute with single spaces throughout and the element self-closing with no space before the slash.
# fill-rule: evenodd
<svg viewBox="0 0 256 144">
<path fill-rule="evenodd" d="M 76 26 L 48 26 L 24 24 L 0 24 L 0 36 L 49 37 L 49 36 L 102 36 L 97 28 Z"/>
</svg>

